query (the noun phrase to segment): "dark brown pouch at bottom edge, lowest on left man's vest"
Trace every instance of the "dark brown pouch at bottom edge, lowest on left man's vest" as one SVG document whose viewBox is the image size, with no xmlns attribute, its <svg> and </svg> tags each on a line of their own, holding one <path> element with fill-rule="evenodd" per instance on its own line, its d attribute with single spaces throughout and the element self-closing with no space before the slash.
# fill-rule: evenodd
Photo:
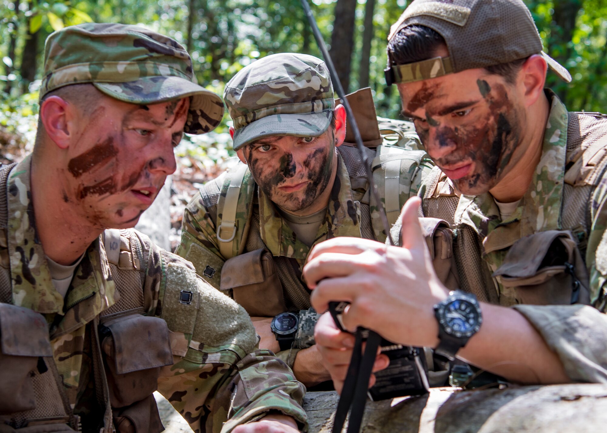
<svg viewBox="0 0 607 433">
<path fill-rule="evenodd" d="M 160 433 L 164 430 L 154 395 L 114 411 L 118 433 Z"/>
</svg>

